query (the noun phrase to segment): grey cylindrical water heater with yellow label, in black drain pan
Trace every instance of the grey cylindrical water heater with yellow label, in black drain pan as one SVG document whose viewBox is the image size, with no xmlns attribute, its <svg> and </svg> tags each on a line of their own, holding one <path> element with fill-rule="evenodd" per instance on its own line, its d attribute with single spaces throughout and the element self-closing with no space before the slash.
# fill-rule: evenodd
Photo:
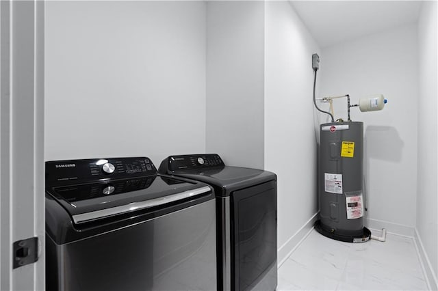
<svg viewBox="0 0 438 291">
<path fill-rule="evenodd" d="M 370 239 L 363 226 L 363 123 L 332 122 L 320 127 L 320 212 L 315 229 L 350 243 Z"/>
</svg>

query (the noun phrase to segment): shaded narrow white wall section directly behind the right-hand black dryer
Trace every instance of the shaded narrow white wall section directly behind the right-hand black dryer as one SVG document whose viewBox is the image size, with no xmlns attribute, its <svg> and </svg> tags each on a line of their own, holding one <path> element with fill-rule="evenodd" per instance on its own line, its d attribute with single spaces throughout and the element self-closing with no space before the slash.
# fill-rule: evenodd
<svg viewBox="0 0 438 291">
<path fill-rule="evenodd" d="M 263 169 L 264 3 L 207 3 L 207 152 Z"/>
</svg>

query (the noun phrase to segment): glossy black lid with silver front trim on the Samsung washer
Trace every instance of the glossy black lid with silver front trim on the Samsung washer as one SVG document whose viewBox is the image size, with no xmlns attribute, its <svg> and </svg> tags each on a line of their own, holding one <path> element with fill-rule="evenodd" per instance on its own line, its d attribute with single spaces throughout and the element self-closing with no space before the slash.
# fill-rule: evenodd
<svg viewBox="0 0 438 291">
<path fill-rule="evenodd" d="M 168 206 L 211 193 L 211 189 L 201 183 L 151 176 L 60 186 L 48 192 L 67 210 L 73 222 L 80 224 L 146 208 Z"/>
</svg>

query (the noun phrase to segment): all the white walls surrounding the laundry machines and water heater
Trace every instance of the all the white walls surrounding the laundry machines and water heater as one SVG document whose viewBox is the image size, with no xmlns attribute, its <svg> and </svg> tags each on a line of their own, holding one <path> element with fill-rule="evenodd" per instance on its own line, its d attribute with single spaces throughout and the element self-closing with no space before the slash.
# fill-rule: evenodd
<svg viewBox="0 0 438 291">
<path fill-rule="evenodd" d="M 417 128 L 415 25 L 321 51 L 288 1 L 48 1 L 45 160 L 147 155 L 159 164 L 168 154 L 217 152 L 228 165 L 264 167 L 279 179 L 285 253 L 317 211 L 311 55 L 318 53 L 318 97 L 389 99 L 380 112 L 352 109 L 365 123 L 368 218 L 416 226 L 436 273 L 430 11 L 420 21 Z M 344 107 L 335 102 L 342 117 Z"/>
</svg>

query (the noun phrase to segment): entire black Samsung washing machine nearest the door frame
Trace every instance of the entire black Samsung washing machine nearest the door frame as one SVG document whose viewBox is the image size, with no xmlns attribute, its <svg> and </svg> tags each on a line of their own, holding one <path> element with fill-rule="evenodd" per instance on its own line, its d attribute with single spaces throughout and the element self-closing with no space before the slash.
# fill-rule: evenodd
<svg viewBox="0 0 438 291">
<path fill-rule="evenodd" d="M 216 289 L 211 186 L 146 157 L 45 166 L 47 290 Z"/>
</svg>

